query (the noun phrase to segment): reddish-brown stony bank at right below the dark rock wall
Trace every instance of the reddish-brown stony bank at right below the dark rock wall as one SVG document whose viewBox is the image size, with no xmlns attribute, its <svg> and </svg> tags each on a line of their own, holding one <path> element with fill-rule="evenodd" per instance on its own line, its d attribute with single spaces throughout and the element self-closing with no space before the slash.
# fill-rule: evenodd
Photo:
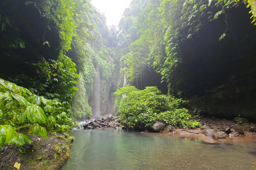
<svg viewBox="0 0 256 170">
<path fill-rule="evenodd" d="M 237 121 L 238 120 L 238 121 Z M 163 129 L 169 135 L 179 135 L 181 138 L 192 138 L 206 143 L 220 143 L 220 140 L 228 140 L 230 138 L 245 137 L 256 135 L 256 124 L 243 123 L 242 119 L 235 118 L 233 121 L 201 117 L 201 128 L 196 129 Z M 170 125 L 169 125 L 170 126 Z M 166 130 L 171 130 L 166 131 Z"/>
</svg>

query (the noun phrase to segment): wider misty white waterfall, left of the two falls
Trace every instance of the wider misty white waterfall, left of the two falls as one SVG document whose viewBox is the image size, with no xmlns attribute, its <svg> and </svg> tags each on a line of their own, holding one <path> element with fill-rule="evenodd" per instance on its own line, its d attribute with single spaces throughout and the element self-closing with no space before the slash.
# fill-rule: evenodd
<svg viewBox="0 0 256 170">
<path fill-rule="evenodd" d="M 96 67 L 97 77 L 95 80 L 95 93 L 94 93 L 94 116 L 100 116 L 100 70 Z"/>
</svg>

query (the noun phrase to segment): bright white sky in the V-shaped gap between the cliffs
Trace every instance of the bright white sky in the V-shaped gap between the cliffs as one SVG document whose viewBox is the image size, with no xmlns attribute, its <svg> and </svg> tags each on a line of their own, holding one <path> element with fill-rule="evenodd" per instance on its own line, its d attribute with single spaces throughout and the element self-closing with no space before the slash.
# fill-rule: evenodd
<svg viewBox="0 0 256 170">
<path fill-rule="evenodd" d="M 99 9 L 100 13 L 105 13 L 107 25 L 110 27 L 110 25 L 118 25 L 131 0 L 92 0 L 91 4 Z"/>
</svg>

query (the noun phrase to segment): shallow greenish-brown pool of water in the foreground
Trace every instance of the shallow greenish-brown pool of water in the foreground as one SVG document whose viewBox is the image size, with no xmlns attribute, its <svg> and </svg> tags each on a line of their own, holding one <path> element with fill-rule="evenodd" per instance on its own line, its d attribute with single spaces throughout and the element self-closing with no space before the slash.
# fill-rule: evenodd
<svg viewBox="0 0 256 170">
<path fill-rule="evenodd" d="M 73 131 L 76 140 L 61 170 L 256 169 L 256 138 L 210 145 L 161 133 L 94 129 Z"/>
</svg>

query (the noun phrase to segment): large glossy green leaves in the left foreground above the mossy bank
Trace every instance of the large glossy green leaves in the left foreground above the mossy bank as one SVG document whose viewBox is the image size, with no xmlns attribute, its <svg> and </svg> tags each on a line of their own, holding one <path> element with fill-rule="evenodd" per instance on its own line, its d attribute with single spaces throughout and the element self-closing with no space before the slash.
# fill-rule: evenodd
<svg viewBox="0 0 256 170">
<path fill-rule="evenodd" d="M 47 137 L 47 130 L 65 131 L 75 124 L 69 118 L 67 102 L 59 99 L 46 99 L 37 96 L 26 88 L 0 79 L 0 146 L 4 143 L 18 146 L 25 144 L 29 137 L 20 131 L 28 130 L 29 134 Z"/>
</svg>

